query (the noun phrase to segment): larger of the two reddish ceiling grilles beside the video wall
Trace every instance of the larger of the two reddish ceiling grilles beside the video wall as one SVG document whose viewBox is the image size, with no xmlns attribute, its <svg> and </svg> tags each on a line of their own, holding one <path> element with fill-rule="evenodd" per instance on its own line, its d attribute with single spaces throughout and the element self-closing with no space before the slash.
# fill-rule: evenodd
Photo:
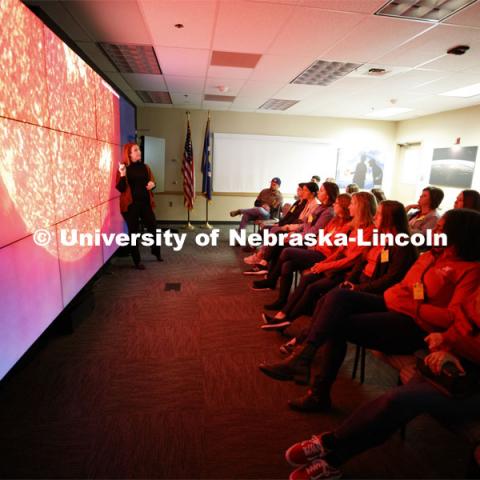
<svg viewBox="0 0 480 480">
<path fill-rule="evenodd" d="M 114 43 L 99 43 L 98 45 L 119 72 L 162 74 L 155 50 L 151 45 Z"/>
</svg>

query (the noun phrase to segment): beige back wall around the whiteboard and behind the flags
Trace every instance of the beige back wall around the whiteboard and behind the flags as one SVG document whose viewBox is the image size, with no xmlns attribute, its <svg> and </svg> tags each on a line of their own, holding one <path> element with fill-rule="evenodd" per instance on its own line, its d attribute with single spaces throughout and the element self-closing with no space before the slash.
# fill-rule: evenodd
<svg viewBox="0 0 480 480">
<path fill-rule="evenodd" d="M 197 172 L 197 191 L 201 189 L 200 164 L 206 121 L 206 111 L 195 110 L 191 112 L 190 124 Z M 186 211 L 183 207 L 181 164 L 186 129 L 185 110 L 155 107 L 139 108 L 137 124 L 139 135 L 161 137 L 166 140 L 166 192 L 156 195 L 157 217 L 161 220 L 184 220 Z M 385 121 L 282 114 L 211 112 L 212 132 L 313 137 L 329 140 L 338 146 L 353 144 L 359 147 L 371 147 L 373 145 L 375 148 L 382 149 L 386 153 L 384 188 L 387 193 L 391 189 L 393 176 L 396 127 L 395 122 Z M 314 173 L 312 172 L 312 174 Z M 209 218 L 212 221 L 230 220 L 228 215 L 230 210 L 249 207 L 254 200 L 255 196 L 218 196 L 214 194 L 209 206 Z M 202 196 L 197 197 L 191 219 L 205 219 L 205 200 Z"/>
</svg>

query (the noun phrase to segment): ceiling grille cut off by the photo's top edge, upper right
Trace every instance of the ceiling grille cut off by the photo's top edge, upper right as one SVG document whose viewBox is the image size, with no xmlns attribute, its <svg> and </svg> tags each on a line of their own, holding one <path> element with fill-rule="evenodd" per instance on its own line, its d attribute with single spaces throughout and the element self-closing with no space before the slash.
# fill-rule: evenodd
<svg viewBox="0 0 480 480">
<path fill-rule="evenodd" d="M 477 0 L 390 0 L 375 12 L 386 17 L 441 22 Z"/>
</svg>

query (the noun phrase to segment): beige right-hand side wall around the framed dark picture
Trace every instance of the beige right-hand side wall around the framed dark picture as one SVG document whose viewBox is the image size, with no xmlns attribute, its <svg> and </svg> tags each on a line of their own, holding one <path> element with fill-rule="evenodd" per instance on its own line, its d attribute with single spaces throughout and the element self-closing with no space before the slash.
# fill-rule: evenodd
<svg viewBox="0 0 480 480">
<path fill-rule="evenodd" d="M 431 159 L 434 148 L 451 147 L 456 138 L 461 138 L 461 145 L 465 147 L 480 144 L 480 106 L 451 110 L 435 115 L 428 115 L 414 120 L 405 120 L 398 123 L 396 142 L 420 142 L 420 161 L 418 168 L 412 171 L 412 188 L 402 185 L 393 188 L 392 194 L 404 202 L 416 200 L 423 186 L 428 185 L 430 177 Z M 473 188 L 480 189 L 480 159 L 477 155 L 477 166 L 473 178 Z M 401 168 L 401 159 L 396 162 Z M 395 183 L 396 179 L 394 180 Z M 443 187 L 442 187 L 443 188 Z M 445 199 L 443 210 L 453 206 L 455 197 L 460 189 L 443 188 Z M 409 193 L 407 196 L 406 193 Z M 412 198 L 413 197 L 413 198 Z"/>
</svg>

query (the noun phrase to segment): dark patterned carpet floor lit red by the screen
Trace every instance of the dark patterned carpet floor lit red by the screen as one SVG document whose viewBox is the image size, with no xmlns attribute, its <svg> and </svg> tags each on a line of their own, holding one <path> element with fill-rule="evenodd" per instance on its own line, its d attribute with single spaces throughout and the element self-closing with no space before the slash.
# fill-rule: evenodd
<svg viewBox="0 0 480 480">
<path fill-rule="evenodd" d="M 352 381 L 349 352 L 335 409 L 290 411 L 287 400 L 305 387 L 258 371 L 285 341 L 259 328 L 274 292 L 249 288 L 245 254 L 228 245 L 225 228 L 216 248 L 196 246 L 195 233 L 181 252 L 164 249 L 163 263 L 142 252 L 145 271 L 112 259 L 73 334 L 50 335 L 2 384 L 2 478 L 287 478 L 290 444 L 395 384 L 374 358 L 365 384 Z M 405 441 L 395 435 L 343 470 L 462 478 L 467 457 L 463 441 L 420 418 Z"/>
</svg>

